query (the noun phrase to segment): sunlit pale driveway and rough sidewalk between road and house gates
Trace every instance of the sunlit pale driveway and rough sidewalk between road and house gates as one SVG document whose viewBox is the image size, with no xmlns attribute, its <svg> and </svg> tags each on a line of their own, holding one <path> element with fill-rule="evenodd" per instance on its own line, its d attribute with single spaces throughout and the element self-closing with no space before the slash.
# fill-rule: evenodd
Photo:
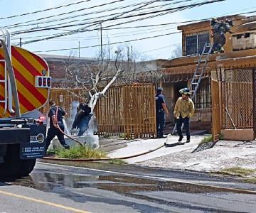
<svg viewBox="0 0 256 213">
<path fill-rule="evenodd" d="M 202 138 L 204 136 L 191 136 L 190 143 L 178 144 L 177 136 L 169 136 L 168 146 L 163 146 L 166 138 L 127 141 L 124 147 L 110 151 L 108 157 L 137 155 L 163 146 L 151 153 L 128 158 L 125 161 L 154 168 L 199 172 L 218 172 L 226 168 L 256 169 L 256 141 L 218 141 L 213 148 L 192 153 Z M 256 170 L 249 176 L 256 177 Z"/>
</svg>

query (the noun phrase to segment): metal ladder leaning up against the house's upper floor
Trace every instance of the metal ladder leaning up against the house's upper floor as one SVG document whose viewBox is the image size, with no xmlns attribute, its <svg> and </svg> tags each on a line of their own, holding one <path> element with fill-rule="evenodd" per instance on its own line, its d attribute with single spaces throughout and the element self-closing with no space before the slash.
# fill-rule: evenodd
<svg viewBox="0 0 256 213">
<path fill-rule="evenodd" d="M 189 86 L 189 90 L 192 93 L 191 99 L 194 99 L 196 97 L 196 92 L 198 91 L 200 82 L 203 78 L 203 74 L 206 71 L 207 63 L 210 58 L 210 53 L 212 51 L 213 45 L 210 45 L 210 43 L 206 42 L 203 46 L 203 51 L 198 59 L 198 64 L 196 65 L 196 70 L 193 74 L 191 84 Z M 183 127 L 183 126 L 182 126 Z M 172 131 L 172 135 L 174 135 L 174 132 L 176 131 L 176 123 L 174 126 L 174 130 Z"/>
</svg>

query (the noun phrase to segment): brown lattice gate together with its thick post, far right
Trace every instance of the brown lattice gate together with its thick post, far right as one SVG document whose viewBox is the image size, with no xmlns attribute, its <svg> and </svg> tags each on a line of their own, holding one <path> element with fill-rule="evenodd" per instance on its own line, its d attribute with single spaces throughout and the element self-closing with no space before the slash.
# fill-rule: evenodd
<svg viewBox="0 0 256 213">
<path fill-rule="evenodd" d="M 255 129 L 255 77 L 253 69 L 219 70 L 212 79 L 212 134 L 220 129 Z M 214 75 L 212 75 L 213 77 Z"/>
</svg>

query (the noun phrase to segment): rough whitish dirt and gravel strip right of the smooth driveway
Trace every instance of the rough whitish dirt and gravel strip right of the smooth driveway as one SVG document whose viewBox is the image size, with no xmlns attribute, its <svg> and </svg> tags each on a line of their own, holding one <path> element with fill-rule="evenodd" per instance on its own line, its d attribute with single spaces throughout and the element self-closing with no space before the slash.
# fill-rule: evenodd
<svg viewBox="0 0 256 213">
<path fill-rule="evenodd" d="M 245 168 L 255 170 L 256 142 L 218 141 L 213 148 L 192 153 L 193 148 L 151 158 L 139 165 L 178 170 L 216 172 L 226 168 Z M 256 177 L 256 170 L 251 175 Z"/>
</svg>

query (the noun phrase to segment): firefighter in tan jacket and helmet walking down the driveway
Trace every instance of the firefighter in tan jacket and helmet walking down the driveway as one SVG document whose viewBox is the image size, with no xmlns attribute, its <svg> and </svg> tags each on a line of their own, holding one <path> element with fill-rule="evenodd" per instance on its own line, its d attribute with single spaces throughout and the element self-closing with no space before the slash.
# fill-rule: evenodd
<svg viewBox="0 0 256 213">
<path fill-rule="evenodd" d="M 195 107 L 193 101 L 190 99 L 191 92 L 188 88 L 180 89 L 182 97 L 179 97 L 175 107 L 174 107 L 174 118 L 176 119 L 176 127 L 178 131 L 178 142 L 183 139 L 181 126 L 184 124 L 184 129 L 186 131 L 186 143 L 190 142 L 190 131 L 189 131 L 189 119 L 193 116 L 195 112 Z"/>
</svg>

